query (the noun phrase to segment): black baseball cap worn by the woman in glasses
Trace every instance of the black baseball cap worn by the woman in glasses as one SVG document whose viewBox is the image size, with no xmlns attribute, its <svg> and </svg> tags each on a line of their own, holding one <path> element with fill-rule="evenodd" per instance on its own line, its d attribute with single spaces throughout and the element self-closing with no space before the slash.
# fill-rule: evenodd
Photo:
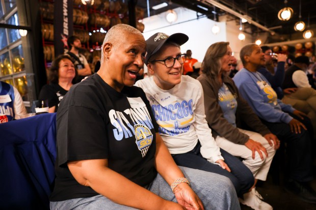
<svg viewBox="0 0 316 210">
<path fill-rule="evenodd" d="M 189 37 L 182 33 L 176 33 L 171 36 L 168 36 L 164 33 L 155 33 L 146 40 L 147 43 L 147 53 L 145 64 L 147 65 L 151 55 L 156 53 L 160 48 L 167 42 L 172 41 L 178 45 L 185 44 L 189 40 Z"/>
</svg>

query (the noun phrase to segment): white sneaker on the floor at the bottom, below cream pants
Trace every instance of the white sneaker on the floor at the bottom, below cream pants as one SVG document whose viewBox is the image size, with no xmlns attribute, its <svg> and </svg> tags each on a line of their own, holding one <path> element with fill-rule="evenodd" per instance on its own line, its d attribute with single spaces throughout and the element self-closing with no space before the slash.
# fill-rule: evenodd
<svg viewBox="0 0 316 210">
<path fill-rule="evenodd" d="M 272 210 L 272 206 L 268 203 L 262 201 L 262 196 L 256 191 L 255 188 L 252 188 L 249 193 L 244 194 L 244 200 L 239 198 L 239 202 L 248 205 L 255 210 Z"/>
</svg>

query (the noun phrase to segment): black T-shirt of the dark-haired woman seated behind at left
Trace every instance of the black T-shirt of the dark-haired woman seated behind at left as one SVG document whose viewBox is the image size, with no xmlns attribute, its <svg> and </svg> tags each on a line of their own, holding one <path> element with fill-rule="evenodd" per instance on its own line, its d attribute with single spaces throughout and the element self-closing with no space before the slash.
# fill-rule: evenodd
<svg viewBox="0 0 316 210">
<path fill-rule="evenodd" d="M 41 92 L 39 94 L 38 100 L 44 101 L 44 104 L 48 103 L 48 107 L 56 106 L 55 112 L 57 112 L 59 103 L 63 99 L 63 97 L 66 95 L 68 91 L 66 91 L 64 88 L 62 88 L 59 84 L 56 83 L 49 83 L 45 84 Z"/>
</svg>

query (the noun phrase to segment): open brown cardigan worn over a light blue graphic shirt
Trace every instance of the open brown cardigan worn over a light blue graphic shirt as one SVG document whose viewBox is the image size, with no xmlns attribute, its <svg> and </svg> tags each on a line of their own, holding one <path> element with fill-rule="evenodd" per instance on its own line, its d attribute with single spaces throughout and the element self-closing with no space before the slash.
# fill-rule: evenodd
<svg viewBox="0 0 316 210">
<path fill-rule="evenodd" d="M 215 77 L 202 74 L 197 78 L 203 87 L 205 115 L 208 126 L 212 129 L 214 138 L 222 136 L 236 144 L 245 144 L 249 136 L 240 132 L 233 125 L 228 123 L 218 104 L 218 92 L 221 84 Z M 238 89 L 231 78 L 223 76 L 223 82 L 227 85 L 229 91 L 235 96 L 237 101 L 236 125 L 241 127 L 241 122 L 246 123 L 252 130 L 260 133 L 262 136 L 271 133 L 269 129 L 261 123 L 259 117 L 253 112 L 248 103 L 241 97 Z"/>
</svg>

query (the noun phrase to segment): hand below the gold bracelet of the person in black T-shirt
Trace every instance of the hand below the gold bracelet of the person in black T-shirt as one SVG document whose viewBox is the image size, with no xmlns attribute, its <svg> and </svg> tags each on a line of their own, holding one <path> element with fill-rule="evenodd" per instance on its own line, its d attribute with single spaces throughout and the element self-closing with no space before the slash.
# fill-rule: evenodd
<svg viewBox="0 0 316 210">
<path fill-rule="evenodd" d="M 204 210 L 202 201 L 187 183 L 181 183 L 174 189 L 178 203 L 188 210 Z"/>
</svg>

